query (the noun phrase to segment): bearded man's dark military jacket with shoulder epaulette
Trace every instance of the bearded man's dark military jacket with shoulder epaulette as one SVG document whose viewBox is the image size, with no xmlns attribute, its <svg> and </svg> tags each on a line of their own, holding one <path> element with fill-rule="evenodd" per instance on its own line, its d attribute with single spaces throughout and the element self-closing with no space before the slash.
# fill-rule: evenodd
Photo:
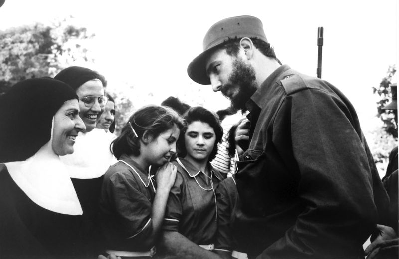
<svg viewBox="0 0 399 259">
<path fill-rule="evenodd" d="M 237 162 L 233 230 L 248 255 L 363 257 L 388 197 L 349 100 L 283 65 L 246 105 L 250 143 Z"/>
</svg>

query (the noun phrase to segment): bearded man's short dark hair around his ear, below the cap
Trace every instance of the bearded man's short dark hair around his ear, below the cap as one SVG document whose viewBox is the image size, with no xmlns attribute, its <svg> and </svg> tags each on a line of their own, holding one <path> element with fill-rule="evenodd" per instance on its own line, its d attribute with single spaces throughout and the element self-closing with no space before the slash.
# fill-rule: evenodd
<svg viewBox="0 0 399 259">
<path fill-rule="evenodd" d="M 265 42 L 256 37 L 252 37 L 250 39 L 255 48 L 257 48 L 260 51 L 260 53 L 262 53 L 266 57 L 275 59 L 281 65 L 281 62 L 276 57 L 276 53 L 274 53 L 274 49 L 272 46 L 270 46 L 270 43 Z M 228 38 L 220 46 L 220 49 L 225 49 L 228 55 L 237 56 L 240 49 L 240 40 L 241 38 L 238 37 Z"/>
</svg>

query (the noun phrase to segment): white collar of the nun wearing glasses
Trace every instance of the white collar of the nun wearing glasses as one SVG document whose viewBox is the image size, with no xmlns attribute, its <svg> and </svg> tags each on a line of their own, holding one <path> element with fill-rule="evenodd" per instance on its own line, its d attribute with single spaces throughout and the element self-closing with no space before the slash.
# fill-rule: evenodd
<svg viewBox="0 0 399 259">
<path fill-rule="evenodd" d="M 110 144 L 116 136 L 104 129 L 79 132 L 73 154 L 61 156 L 71 178 L 93 179 L 105 174 L 117 162 L 110 151 Z"/>
</svg>

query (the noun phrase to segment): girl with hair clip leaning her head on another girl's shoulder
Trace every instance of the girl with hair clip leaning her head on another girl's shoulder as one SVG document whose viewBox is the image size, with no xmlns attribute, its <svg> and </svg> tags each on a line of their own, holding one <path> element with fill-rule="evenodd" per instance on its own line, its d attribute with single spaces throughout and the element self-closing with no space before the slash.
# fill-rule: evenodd
<svg viewBox="0 0 399 259">
<path fill-rule="evenodd" d="M 112 144 L 119 160 L 105 173 L 100 222 L 106 252 L 151 257 L 176 168 L 169 163 L 183 120 L 173 110 L 147 106 L 135 112 Z M 150 167 L 159 167 L 156 180 Z M 158 187 L 157 187 L 157 186 Z"/>
</svg>

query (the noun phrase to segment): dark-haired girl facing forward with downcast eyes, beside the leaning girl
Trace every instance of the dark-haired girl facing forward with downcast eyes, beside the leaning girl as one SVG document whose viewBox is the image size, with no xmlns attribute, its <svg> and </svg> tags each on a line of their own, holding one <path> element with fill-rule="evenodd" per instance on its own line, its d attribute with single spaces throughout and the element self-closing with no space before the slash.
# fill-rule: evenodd
<svg viewBox="0 0 399 259">
<path fill-rule="evenodd" d="M 173 162 L 178 174 L 171 189 L 163 224 L 161 247 L 167 257 L 217 258 L 213 250 L 216 232 L 215 189 L 223 179 L 209 163 L 223 135 L 217 116 L 203 107 L 190 108 L 179 150 Z M 180 145 L 180 142 L 183 145 Z"/>
</svg>

